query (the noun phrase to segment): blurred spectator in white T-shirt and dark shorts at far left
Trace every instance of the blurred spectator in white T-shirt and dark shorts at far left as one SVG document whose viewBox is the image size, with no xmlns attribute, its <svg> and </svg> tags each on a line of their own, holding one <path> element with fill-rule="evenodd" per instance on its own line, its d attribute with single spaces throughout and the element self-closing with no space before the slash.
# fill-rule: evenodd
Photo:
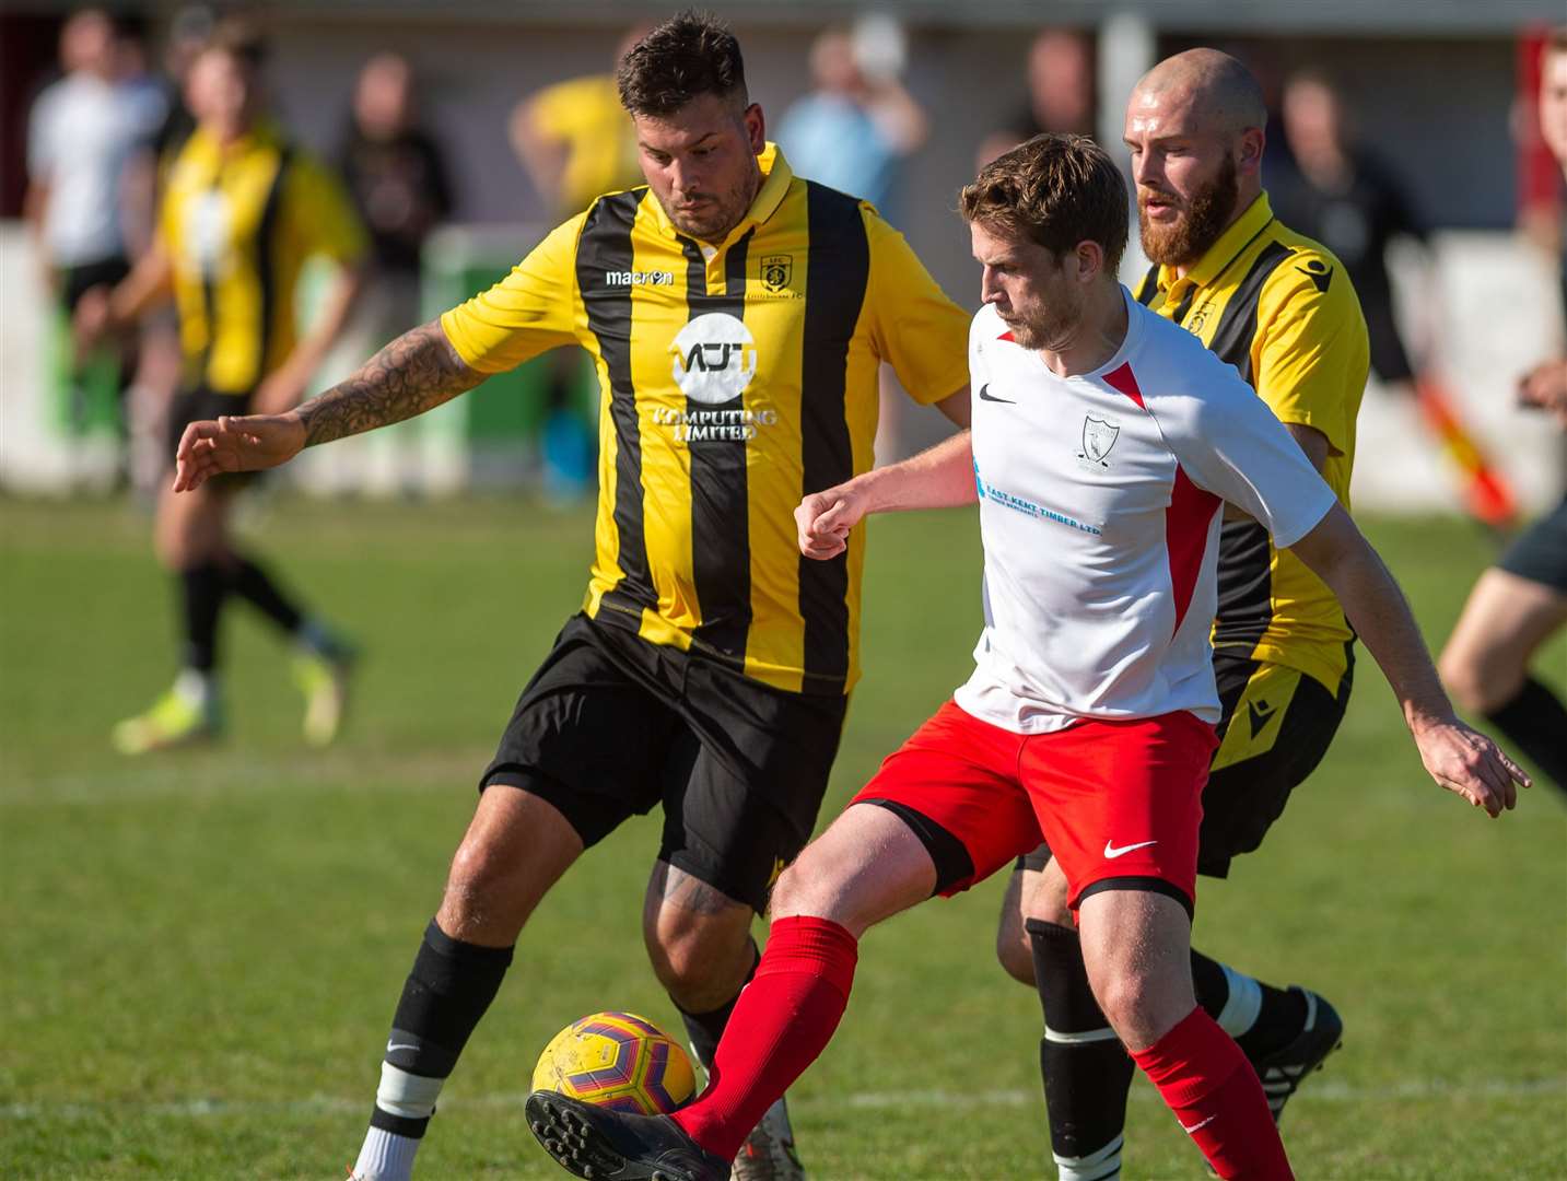
<svg viewBox="0 0 1567 1181">
<path fill-rule="evenodd" d="M 150 185 L 150 171 L 128 164 L 150 141 L 163 102 L 155 89 L 125 81 L 121 50 L 105 13 L 83 9 L 66 20 L 60 34 L 64 77 L 38 96 L 28 125 L 24 204 L 44 282 L 61 309 L 55 371 L 72 435 L 94 426 L 119 429 L 118 403 L 132 371 L 128 337 L 78 359 L 64 330 L 88 290 L 125 277 L 127 222 L 138 208 L 143 218 L 150 208 L 150 196 L 127 191 L 135 175 Z"/>
</svg>

